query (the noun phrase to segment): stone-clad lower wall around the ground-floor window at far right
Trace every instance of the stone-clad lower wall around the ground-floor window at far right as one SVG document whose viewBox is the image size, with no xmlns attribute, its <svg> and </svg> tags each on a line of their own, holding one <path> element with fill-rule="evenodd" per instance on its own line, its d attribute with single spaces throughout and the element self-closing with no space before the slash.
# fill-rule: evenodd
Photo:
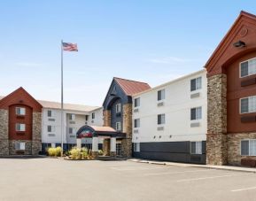
<svg viewBox="0 0 256 201">
<path fill-rule="evenodd" d="M 256 133 L 241 133 L 241 134 L 229 134 L 228 135 L 228 163 L 229 165 L 239 166 L 241 165 L 242 158 L 254 158 L 241 156 L 241 140 L 244 139 L 256 139 Z"/>
</svg>

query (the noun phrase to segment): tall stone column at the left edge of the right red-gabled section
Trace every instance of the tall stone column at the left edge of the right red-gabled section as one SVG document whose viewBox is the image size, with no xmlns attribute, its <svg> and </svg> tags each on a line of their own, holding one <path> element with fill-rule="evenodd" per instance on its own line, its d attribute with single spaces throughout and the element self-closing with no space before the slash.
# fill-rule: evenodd
<svg viewBox="0 0 256 201">
<path fill-rule="evenodd" d="M 221 166 L 228 161 L 227 75 L 216 74 L 207 80 L 206 164 Z"/>
</svg>

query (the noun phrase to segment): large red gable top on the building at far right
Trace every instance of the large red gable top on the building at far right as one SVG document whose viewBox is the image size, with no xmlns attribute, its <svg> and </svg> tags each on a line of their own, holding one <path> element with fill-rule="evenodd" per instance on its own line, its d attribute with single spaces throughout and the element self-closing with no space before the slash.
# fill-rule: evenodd
<svg viewBox="0 0 256 201">
<path fill-rule="evenodd" d="M 256 16 L 241 11 L 236 21 L 229 28 L 228 33 L 223 37 L 221 43 L 213 51 L 212 56 L 207 60 L 205 67 L 208 74 L 221 73 L 221 65 L 230 58 L 244 50 L 248 52 L 250 49 L 255 48 L 255 44 L 253 43 L 255 41 L 255 28 Z M 238 40 L 244 41 L 246 46 L 244 48 L 236 48 L 231 45 Z"/>
</svg>

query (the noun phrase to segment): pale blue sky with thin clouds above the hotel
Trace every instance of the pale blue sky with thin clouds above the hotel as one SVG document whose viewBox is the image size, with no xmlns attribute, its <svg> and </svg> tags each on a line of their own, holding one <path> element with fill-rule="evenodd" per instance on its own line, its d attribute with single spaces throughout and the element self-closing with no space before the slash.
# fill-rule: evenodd
<svg viewBox="0 0 256 201">
<path fill-rule="evenodd" d="M 23 87 L 60 102 L 102 105 L 112 77 L 155 87 L 203 69 L 251 0 L 8 0 L 0 6 L 0 96 Z"/>
</svg>

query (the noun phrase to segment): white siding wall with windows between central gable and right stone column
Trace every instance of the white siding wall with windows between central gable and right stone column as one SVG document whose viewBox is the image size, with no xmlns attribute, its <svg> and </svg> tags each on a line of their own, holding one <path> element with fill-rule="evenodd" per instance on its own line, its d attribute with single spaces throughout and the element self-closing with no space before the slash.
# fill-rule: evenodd
<svg viewBox="0 0 256 201">
<path fill-rule="evenodd" d="M 202 88 L 190 91 L 190 80 L 202 77 Z M 140 128 L 133 125 L 133 143 L 205 141 L 207 131 L 207 83 L 206 71 L 192 73 L 175 81 L 170 81 L 154 89 L 137 94 L 140 97 L 138 112 L 133 112 L 135 119 L 140 119 Z M 165 89 L 165 99 L 158 101 L 158 91 Z M 199 97 L 191 98 L 191 94 Z M 158 106 L 163 103 L 162 106 Z M 190 109 L 202 107 L 202 120 L 190 120 Z M 133 107 L 133 111 L 134 111 Z M 158 125 L 158 114 L 165 113 L 165 124 Z M 191 128 L 191 123 L 199 127 Z M 163 130 L 158 130 L 164 127 Z M 136 131 L 135 131 L 136 130 Z"/>
</svg>

